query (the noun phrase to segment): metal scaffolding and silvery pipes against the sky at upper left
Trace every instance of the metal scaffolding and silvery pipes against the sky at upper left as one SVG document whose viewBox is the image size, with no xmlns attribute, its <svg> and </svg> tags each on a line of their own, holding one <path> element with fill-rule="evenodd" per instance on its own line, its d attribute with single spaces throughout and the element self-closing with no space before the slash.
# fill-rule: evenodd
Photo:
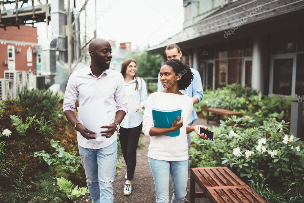
<svg viewBox="0 0 304 203">
<path fill-rule="evenodd" d="M 86 17 L 85 8 L 88 1 L 83 0 L 81 9 L 76 10 L 75 0 L 73 1 L 74 8 L 70 8 L 70 0 L 67 0 L 66 9 L 64 8 L 64 0 L 0 0 L 0 28 L 6 30 L 7 26 L 17 26 L 19 28 L 20 25 L 34 25 L 40 22 L 48 25 L 52 20 L 52 36 L 51 38 L 47 36 L 47 38 L 53 44 L 57 44 L 56 48 L 52 45 L 53 51 L 59 51 L 56 60 L 67 67 L 67 72 L 70 75 L 83 58 L 86 61 L 87 45 L 96 38 L 96 25 L 94 37 L 92 39 L 88 38 L 86 18 L 85 31 L 80 32 L 79 16 L 84 11 Z M 83 43 L 80 41 L 80 35 L 84 36 Z"/>
</svg>

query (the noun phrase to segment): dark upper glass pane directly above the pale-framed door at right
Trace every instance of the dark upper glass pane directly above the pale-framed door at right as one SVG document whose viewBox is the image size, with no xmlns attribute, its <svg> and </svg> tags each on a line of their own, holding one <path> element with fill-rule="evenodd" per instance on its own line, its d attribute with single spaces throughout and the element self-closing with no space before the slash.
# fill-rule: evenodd
<svg viewBox="0 0 304 203">
<path fill-rule="evenodd" d="M 271 34 L 272 54 L 294 53 L 296 32 L 296 30 L 288 30 Z"/>
</svg>

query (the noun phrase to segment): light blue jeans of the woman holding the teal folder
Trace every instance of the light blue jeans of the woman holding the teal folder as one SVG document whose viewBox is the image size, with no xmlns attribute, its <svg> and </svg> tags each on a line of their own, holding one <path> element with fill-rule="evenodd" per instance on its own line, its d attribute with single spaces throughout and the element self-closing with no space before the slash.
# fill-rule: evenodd
<svg viewBox="0 0 304 203">
<path fill-rule="evenodd" d="M 164 161 L 149 157 L 148 159 L 155 184 L 156 202 L 169 202 L 169 172 L 173 186 L 171 203 L 184 202 L 188 182 L 188 160 Z"/>
</svg>

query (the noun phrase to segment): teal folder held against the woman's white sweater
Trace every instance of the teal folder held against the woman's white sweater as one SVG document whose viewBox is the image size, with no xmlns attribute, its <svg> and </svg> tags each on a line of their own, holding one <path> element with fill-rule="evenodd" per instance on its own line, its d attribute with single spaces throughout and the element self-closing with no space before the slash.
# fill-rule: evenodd
<svg viewBox="0 0 304 203">
<path fill-rule="evenodd" d="M 153 125 L 154 127 L 158 128 L 170 128 L 173 121 L 176 117 L 179 116 L 179 120 L 181 120 L 181 109 L 174 109 L 174 110 L 160 110 L 152 108 L 152 118 L 153 118 Z M 180 129 L 169 132 L 165 135 L 169 137 L 176 137 L 180 134 Z"/>
</svg>

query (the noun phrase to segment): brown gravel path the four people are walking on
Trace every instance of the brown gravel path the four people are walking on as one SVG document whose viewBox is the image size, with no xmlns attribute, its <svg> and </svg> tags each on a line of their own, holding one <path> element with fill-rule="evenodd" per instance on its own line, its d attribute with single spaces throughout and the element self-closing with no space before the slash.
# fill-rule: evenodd
<svg viewBox="0 0 304 203">
<path fill-rule="evenodd" d="M 113 184 L 114 187 L 114 203 L 120 202 L 155 202 L 155 187 L 153 177 L 150 171 L 150 166 L 148 163 L 148 146 L 150 139 L 149 137 L 143 136 L 140 137 L 141 142 L 145 144 L 144 147 L 137 149 L 137 163 L 136 169 L 134 173 L 133 183 L 132 183 L 132 194 L 129 196 L 123 195 L 123 187 L 125 184 L 125 173 L 126 173 L 126 165 L 119 169 L 119 174 L 116 175 L 115 181 Z M 123 158 L 121 157 L 123 161 Z M 123 161 L 124 162 L 124 161 Z M 185 198 L 185 202 L 190 202 L 189 200 L 189 183 L 190 178 L 188 178 L 188 186 L 187 186 L 187 196 Z M 199 188 L 196 188 L 199 191 Z M 169 181 L 169 202 L 171 202 L 172 197 L 172 184 L 171 178 Z M 89 202 L 91 203 L 91 198 L 87 194 L 86 196 L 81 197 L 78 202 Z M 209 202 L 207 198 L 198 198 L 195 199 L 196 203 L 207 203 Z"/>
</svg>

